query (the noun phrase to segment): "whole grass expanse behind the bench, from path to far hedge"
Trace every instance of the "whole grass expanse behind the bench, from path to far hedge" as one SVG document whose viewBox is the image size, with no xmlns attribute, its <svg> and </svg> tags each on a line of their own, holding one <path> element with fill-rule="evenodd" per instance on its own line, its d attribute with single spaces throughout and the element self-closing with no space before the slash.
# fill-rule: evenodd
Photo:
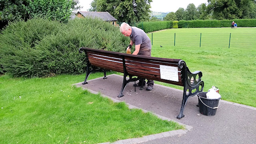
<svg viewBox="0 0 256 144">
<path fill-rule="evenodd" d="M 201 47 L 200 33 L 212 36 Z M 152 34 L 148 36 L 151 38 Z M 202 71 L 204 91 L 217 86 L 223 100 L 256 107 L 256 28 L 179 28 L 153 32 L 152 56 L 182 59 L 190 71 Z"/>
</svg>

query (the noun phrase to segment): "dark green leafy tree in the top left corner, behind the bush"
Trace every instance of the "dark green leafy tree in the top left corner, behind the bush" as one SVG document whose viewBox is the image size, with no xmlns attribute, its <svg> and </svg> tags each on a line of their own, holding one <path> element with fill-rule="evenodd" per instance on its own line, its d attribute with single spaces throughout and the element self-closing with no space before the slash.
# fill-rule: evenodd
<svg viewBox="0 0 256 144">
<path fill-rule="evenodd" d="M 78 0 L 0 0 L 0 22 L 7 23 L 18 19 L 28 20 L 47 17 L 66 22 L 72 10 L 80 6 Z"/>
</svg>

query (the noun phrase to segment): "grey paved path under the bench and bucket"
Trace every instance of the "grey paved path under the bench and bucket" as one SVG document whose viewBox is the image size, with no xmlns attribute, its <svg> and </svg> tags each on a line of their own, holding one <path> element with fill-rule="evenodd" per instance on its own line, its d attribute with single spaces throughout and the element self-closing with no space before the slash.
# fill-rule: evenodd
<svg viewBox="0 0 256 144">
<path fill-rule="evenodd" d="M 242 104 L 220 100 L 215 116 L 200 114 L 196 106 L 198 97 L 188 99 L 184 115 L 178 120 L 182 102 L 182 90 L 154 85 L 152 91 L 139 90 L 130 82 L 124 90 L 124 96 L 117 98 L 122 86 L 123 77 L 111 74 L 108 78 L 89 80 L 88 84 L 76 84 L 90 90 L 100 92 L 114 101 L 125 101 L 130 107 L 142 108 L 162 116 L 163 119 L 174 120 L 186 125 L 186 130 L 165 132 L 128 140 L 116 141 L 113 144 L 256 144 L 256 108 Z M 220 88 L 221 94 L 221 88 Z"/>
</svg>

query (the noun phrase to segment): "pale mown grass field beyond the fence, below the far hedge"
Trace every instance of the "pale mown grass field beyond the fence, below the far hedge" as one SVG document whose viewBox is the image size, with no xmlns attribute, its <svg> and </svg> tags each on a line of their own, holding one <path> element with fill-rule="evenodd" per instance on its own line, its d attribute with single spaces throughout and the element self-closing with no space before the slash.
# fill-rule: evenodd
<svg viewBox="0 0 256 144">
<path fill-rule="evenodd" d="M 175 34 L 175 35 L 174 35 Z M 152 33 L 148 34 L 152 39 Z M 153 46 L 256 48 L 256 28 L 179 28 L 153 33 Z M 201 41 L 201 42 L 200 42 Z"/>
</svg>

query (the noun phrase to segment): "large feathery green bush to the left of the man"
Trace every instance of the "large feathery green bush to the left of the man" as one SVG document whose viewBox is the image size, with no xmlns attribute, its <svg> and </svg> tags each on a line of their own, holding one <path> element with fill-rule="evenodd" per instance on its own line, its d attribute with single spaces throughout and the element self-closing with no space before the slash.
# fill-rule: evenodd
<svg viewBox="0 0 256 144">
<path fill-rule="evenodd" d="M 12 23 L 2 31 L 0 65 L 12 76 L 81 74 L 86 63 L 78 48 L 124 52 L 129 42 L 117 27 L 100 19 L 81 18 L 67 24 L 32 19 Z"/>
</svg>

